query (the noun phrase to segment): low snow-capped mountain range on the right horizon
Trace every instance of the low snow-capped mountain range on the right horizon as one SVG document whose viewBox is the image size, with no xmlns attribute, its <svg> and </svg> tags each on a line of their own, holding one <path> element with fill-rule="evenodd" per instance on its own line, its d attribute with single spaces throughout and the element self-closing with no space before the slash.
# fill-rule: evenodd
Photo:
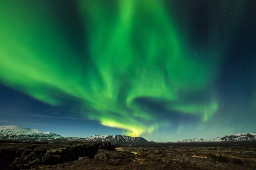
<svg viewBox="0 0 256 170">
<path fill-rule="evenodd" d="M 232 135 L 226 135 L 224 137 L 216 137 L 212 139 L 184 139 L 176 140 L 176 143 L 186 142 L 240 142 L 240 141 L 256 141 L 256 133 L 236 133 Z"/>
</svg>

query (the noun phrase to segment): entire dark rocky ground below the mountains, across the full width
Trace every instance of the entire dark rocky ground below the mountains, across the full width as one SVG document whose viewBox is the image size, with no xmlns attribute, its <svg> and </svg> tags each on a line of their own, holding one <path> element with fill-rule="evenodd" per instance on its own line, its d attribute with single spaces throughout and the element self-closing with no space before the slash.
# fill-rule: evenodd
<svg viewBox="0 0 256 170">
<path fill-rule="evenodd" d="M 0 143 L 0 169 L 255 170 L 255 143 Z"/>
</svg>

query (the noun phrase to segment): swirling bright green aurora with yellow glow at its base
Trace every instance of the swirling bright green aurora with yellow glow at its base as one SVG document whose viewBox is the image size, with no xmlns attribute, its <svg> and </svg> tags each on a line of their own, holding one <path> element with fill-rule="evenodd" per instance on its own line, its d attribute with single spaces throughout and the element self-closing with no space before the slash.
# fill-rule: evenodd
<svg viewBox="0 0 256 170">
<path fill-rule="evenodd" d="M 83 116 L 131 136 L 174 121 L 149 105 L 202 121 L 214 115 L 220 37 L 195 50 L 162 0 L 76 3 L 85 52 L 72 46 L 50 3 L 0 1 L 0 82 L 51 105 L 77 101 Z M 207 97 L 188 99 L 198 94 Z"/>
</svg>

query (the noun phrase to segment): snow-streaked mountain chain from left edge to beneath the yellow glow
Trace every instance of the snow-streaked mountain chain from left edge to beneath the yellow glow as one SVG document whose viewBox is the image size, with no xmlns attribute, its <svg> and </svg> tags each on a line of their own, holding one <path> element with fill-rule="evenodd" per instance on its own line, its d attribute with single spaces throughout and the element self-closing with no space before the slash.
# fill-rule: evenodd
<svg viewBox="0 0 256 170">
<path fill-rule="evenodd" d="M 52 132 L 43 132 L 36 129 L 20 126 L 0 126 L 0 140 L 20 142 L 111 142 L 113 144 L 150 144 L 142 137 L 126 135 L 92 135 L 87 138 L 63 137 Z"/>
</svg>

